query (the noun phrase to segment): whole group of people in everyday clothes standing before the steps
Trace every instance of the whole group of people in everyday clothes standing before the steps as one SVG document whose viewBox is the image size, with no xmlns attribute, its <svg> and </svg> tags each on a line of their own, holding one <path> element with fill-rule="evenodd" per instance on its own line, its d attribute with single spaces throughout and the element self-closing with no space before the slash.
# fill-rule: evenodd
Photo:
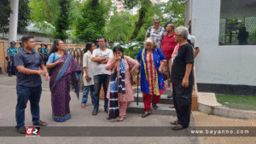
<svg viewBox="0 0 256 144">
<path fill-rule="evenodd" d="M 46 126 L 39 118 L 39 100 L 42 93 L 40 75 L 49 79 L 51 91 L 52 118 L 64 122 L 71 118 L 69 101 L 70 87 L 79 97 L 79 78 L 83 77 L 84 91 L 80 107 L 84 108 L 90 91 L 94 106 L 92 115 L 99 112 L 99 95 L 104 90 L 104 112 L 107 119 L 125 120 L 127 107 L 134 101 L 131 87 L 131 73 L 139 72 L 141 63 L 141 90 L 143 92 L 144 112 L 142 118 L 151 114 L 151 105 L 157 109 L 160 95 L 166 87 L 172 88 L 177 121 L 173 130 L 182 130 L 189 126 L 191 97 L 194 85 L 195 49 L 188 41 L 189 30 L 184 26 L 174 29 L 172 23 L 160 27 L 160 19 L 154 18 L 154 26 L 149 27 L 144 48 L 137 54 L 136 60 L 124 55 L 121 46 L 107 48 L 107 39 L 99 37 L 96 43 L 86 43 L 84 49 L 83 69 L 74 60 L 73 55 L 65 51 L 65 44 L 55 40 L 49 51 L 49 58 L 44 66 L 44 58 L 32 49 L 35 46 L 32 36 L 22 37 L 24 49 L 15 55 L 17 68 L 16 128 L 25 133 L 25 108 L 31 101 L 32 122 L 34 125 Z M 98 47 L 98 49 L 97 49 Z M 81 76 L 81 72 L 84 75 Z M 171 72 L 171 84 L 168 79 Z M 165 76 L 165 73 L 166 74 Z M 166 84 L 164 78 L 167 80 Z"/>
</svg>

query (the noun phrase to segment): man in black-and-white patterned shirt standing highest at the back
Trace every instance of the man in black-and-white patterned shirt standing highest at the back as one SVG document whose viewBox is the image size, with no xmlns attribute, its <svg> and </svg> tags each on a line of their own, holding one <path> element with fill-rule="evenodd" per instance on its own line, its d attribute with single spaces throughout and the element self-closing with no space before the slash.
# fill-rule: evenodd
<svg viewBox="0 0 256 144">
<path fill-rule="evenodd" d="M 161 49 L 162 39 L 166 35 L 166 30 L 164 27 L 160 26 L 160 18 L 154 18 L 153 24 L 154 26 L 148 28 L 146 37 L 153 37 L 158 47 Z"/>
</svg>

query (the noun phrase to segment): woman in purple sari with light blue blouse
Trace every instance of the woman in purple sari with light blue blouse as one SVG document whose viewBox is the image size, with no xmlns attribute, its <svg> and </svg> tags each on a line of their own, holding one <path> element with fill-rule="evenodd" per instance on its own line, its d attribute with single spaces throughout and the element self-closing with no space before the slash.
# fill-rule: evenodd
<svg viewBox="0 0 256 144">
<path fill-rule="evenodd" d="M 51 91 L 52 118 L 56 122 L 65 122 L 71 118 L 70 84 L 73 84 L 79 97 L 79 78 L 82 69 L 73 55 L 65 51 L 64 43 L 57 39 L 49 52 L 46 67 L 50 69 L 49 89 Z"/>
</svg>

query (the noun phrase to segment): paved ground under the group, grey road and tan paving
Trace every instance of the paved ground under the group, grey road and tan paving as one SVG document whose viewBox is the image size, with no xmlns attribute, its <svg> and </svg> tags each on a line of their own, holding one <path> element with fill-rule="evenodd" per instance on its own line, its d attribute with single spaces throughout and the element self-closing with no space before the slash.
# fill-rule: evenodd
<svg viewBox="0 0 256 144">
<path fill-rule="evenodd" d="M 43 80 L 43 94 L 40 101 L 40 115 L 41 119 L 47 121 L 49 127 L 52 126 L 159 126 L 167 127 L 162 133 L 170 133 L 171 135 L 187 135 L 189 130 L 180 130 L 173 132 L 171 130 L 170 121 L 176 118 L 172 116 L 151 115 L 148 118 L 141 118 L 141 114 L 128 113 L 125 121 L 117 123 L 114 120 L 108 121 L 106 119 L 107 114 L 103 112 L 103 101 L 100 101 L 100 112 L 97 116 L 92 116 L 92 104 L 89 100 L 88 105 L 82 109 L 79 107 L 80 101 L 77 101 L 76 96 L 72 93 L 72 100 L 70 102 L 72 118 L 65 123 L 56 123 L 51 118 L 51 104 L 50 104 L 50 92 L 49 82 Z M 9 126 L 13 128 L 15 126 L 15 105 L 16 105 L 16 89 L 15 89 L 15 77 L 9 78 L 6 75 L 0 75 L 0 127 Z M 26 126 L 32 126 L 31 113 L 29 109 L 30 104 L 27 104 L 26 109 Z M 203 112 L 192 112 L 193 118 L 192 126 L 256 126 L 256 119 L 232 119 L 222 118 L 218 116 L 208 115 Z M 193 120 L 194 119 L 194 120 Z M 71 127 L 72 128 L 72 127 Z M 15 135 L 17 132 L 13 130 Z M 42 132 L 42 130 L 41 130 Z M 159 133 L 159 131 L 156 131 Z M 42 134 L 41 134 L 42 135 Z M 0 137 L 2 143 L 256 143 L 256 137 L 189 137 L 189 136 L 160 136 L 160 137 L 145 137 L 145 136 L 130 136 L 130 137 L 108 137 L 108 136 L 95 136 L 95 137 L 39 137 L 39 138 L 27 138 L 27 137 Z"/>
</svg>

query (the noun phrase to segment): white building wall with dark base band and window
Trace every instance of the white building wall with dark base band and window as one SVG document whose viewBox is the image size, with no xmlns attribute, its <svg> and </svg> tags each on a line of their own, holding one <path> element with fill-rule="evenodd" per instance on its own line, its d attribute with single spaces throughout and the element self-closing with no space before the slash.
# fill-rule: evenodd
<svg viewBox="0 0 256 144">
<path fill-rule="evenodd" d="M 199 91 L 256 95 L 256 1 L 189 0 L 186 24 L 200 45 Z"/>
</svg>

